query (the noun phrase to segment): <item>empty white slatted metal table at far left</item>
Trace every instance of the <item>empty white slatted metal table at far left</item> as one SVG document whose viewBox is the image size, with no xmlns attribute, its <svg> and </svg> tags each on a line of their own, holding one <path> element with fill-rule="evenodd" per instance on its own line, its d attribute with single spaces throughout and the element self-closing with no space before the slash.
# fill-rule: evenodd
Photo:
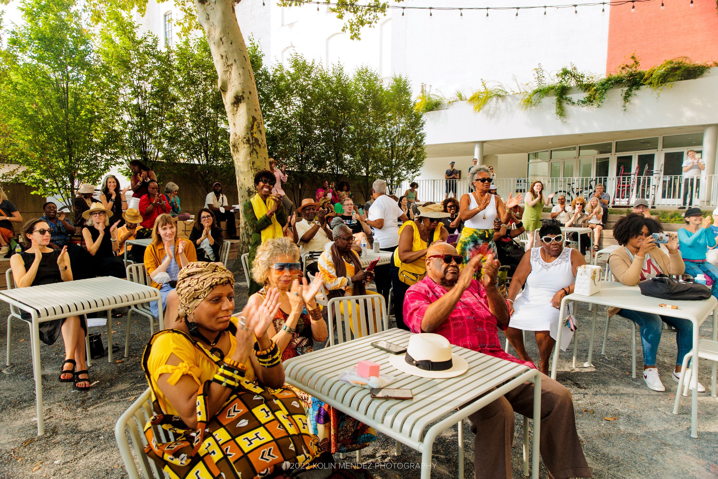
<svg viewBox="0 0 718 479">
<path fill-rule="evenodd" d="M 29 313 L 32 320 L 32 371 L 37 403 L 37 435 L 45 434 L 42 416 L 42 368 L 40 368 L 39 323 L 68 316 L 87 315 L 116 307 L 159 301 L 159 324 L 162 327 L 162 298 L 159 289 L 129 282 L 113 276 L 78 279 L 27 288 L 0 291 L 0 300 Z M 109 314 L 109 313 L 108 313 Z M 111 326 L 111 319 L 108 319 Z M 112 362 L 112 328 L 108 327 L 108 361 Z"/>
</svg>

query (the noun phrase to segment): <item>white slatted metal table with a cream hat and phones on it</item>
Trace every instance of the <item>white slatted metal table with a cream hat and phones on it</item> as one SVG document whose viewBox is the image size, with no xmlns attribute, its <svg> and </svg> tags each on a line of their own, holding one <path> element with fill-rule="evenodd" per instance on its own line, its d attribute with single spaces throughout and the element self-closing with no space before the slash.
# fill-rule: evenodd
<svg viewBox="0 0 718 479">
<path fill-rule="evenodd" d="M 452 352 L 469 363 L 469 370 L 455 378 L 421 378 L 394 368 L 389 362 L 389 353 L 370 345 L 376 340 L 387 340 L 406 347 L 411 334 L 393 328 L 289 358 L 284 361 L 286 382 L 421 452 L 421 479 L 429 479 L 431 476 L 432 447 L 439 434 L 521 383 L 534 383 L 533 417 L 541 417 L 541 373 L 536 369 L 452 346 Z M 339 374 L 356 366 L 359 359 L 380 364 L 382 373 L 396 377 L 396 381 L 388 387 L 411 389 L 414 399 L 371 399 L 369 389 L 339 381 Z M 457 411 L 458 407 L 465 404 Z M 441 419 L 447 414 L 448 417 Z M 540 420 L 533 421 L 531 470 L 534 479 L 538 479 L 540 423 Z M 528 435 L 527 426 L 524 432 Z M 462 437 L 460 426 L 460 478 L 464 473 Z M 524 450 L 524 457 L 528 457 L 527 450 Z M 528 470 L 525 470 L 525 474 L 528 475 Z"/>
</svg>

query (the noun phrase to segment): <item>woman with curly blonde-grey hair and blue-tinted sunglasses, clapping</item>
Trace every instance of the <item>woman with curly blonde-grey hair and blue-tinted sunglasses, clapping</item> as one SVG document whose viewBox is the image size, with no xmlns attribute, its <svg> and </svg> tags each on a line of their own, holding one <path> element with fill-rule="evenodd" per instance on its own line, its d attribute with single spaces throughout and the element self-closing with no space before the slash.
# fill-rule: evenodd
<svg viewBox="0 0 718 479">
<path fill-rule="evenodd" d="M 299 281 L 299 271 L 299 248 L 289 238 L 266 241 L 257 249 L 252 276 L 264 287 L 252 294 L 247 306 L 261 307 L 266 302 L 278 301 L 279 309 L 266 334 L 279 347 L 282 361 L 311 353 L 315 340 L 327 340 L 327 323 L 314 299 L 322 287 L 322 279 L 317 276 L 307 285 L 307 279 Z M 323 450 L 332 454 L 349 452 L 366 447 L 376 439 L 376 432 L 365 424 L 312 400 L 312 396 L 303 391 L 286 384 L 284 387 L 294 390 L 302 400 L 312 432 Z"/>
</svg>

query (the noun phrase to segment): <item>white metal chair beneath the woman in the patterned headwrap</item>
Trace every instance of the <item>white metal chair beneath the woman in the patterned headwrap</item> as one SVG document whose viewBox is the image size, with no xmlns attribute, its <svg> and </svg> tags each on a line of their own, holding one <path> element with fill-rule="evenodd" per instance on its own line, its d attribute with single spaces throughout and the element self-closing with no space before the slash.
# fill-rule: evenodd
<svg viewBox="0 0 718 479">
<path fill-rule="evenodd" d="M 115 440 L 120 450 L 122 461 L 129 479 L 164 479 L 166 476 L 157 468 L 154 461 L 144 452 L 147 439 L 144 435 L 144 425 L 152 417 L 152 396 L 149 388 L 123 412 L 115 424 Z M 167 433 L 162 427 L 153 426 L 155 437 L 168 442 Z M 131 438 L 131 444 L 127 437 Z M 169 437 L 169 440 L 172 440 Z"/>
</svg>

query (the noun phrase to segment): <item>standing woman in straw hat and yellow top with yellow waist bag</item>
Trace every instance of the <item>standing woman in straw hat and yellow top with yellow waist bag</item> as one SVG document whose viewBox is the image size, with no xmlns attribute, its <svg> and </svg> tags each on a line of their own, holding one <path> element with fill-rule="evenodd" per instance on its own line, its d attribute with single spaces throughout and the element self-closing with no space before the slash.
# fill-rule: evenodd
<svg viewBox="0 0 718 479">
<path fill-rule="evenodd" d="M 409 330 L 404 324 L 404 294 L 412 284 L 426 276 L 426 250 L 435 241 L 446 241 L 449 231 L 441 223 L 449 213 L 441 204 L 419 206 L 416 219 L 405 221 L 399 228 L 399 246 L 394 250 L 391 284 L 394 293 L 396 326 Z"/>
</svg>

